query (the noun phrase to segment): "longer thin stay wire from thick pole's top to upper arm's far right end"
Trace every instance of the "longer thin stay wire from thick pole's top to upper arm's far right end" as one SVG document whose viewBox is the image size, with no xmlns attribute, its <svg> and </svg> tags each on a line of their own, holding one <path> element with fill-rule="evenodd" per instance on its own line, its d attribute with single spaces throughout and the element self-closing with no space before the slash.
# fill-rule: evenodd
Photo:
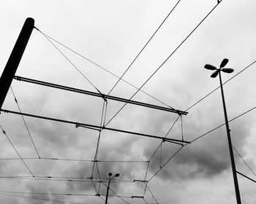
<svg viewBox="0 0 256 204">
<path fill-rule="evenodd" d="M 42 31 L 40 31 L 42 33 Z M 48 36 L 47 34 L 43 33 L 45 36 L 47 36 L 49 39 L 53 40 L 54 42 L 60 44 L 61 46 L 67 48 L 67 50 L 70 50 L 71 52 L 74 52 L 76 55 L 80 56 L 81 58 L 84 58 L 85 60 L 88 60 L 90 63 L 94 64 L 95 66 L 101 68 L 102 70 L 104 71 L 107 71 L 109 74 L 115 76 L 116 78 L 120 79 L 119 76 L 117 76 L 116 74 L 113 74 L 113 72 L 109 71 L 108 69 L 104 68 L 103 66 L 100 66 L 98 63 L 95 63 L 94 61 L 92 60 L 89 60 L 89 58 L 86 58 L 85 56 L 79 54 L 78 52 L 76 52 L 75 50 L 72 50 L 71 48 L 67 47 L 66 45 L 64 45 L 63 43 L 57 41 L 56 39 L 53 39 L 51 36 Z M 136 87 L 135 85 L 132 85 L 131 83 L 127 82 L 126 80 L 124 79 L 121 79 L 122 82 L 125 82 L 127 85 L 130 85 L 131 87 L 134 87 L 136 90 L 138 90 L 139 88 Z M 158 101 L 159 103 L 162 103 L 163 105 L 169 107 L 169 108 L 172 108 L 171 106 L 167 105 L 167 103 L 164 103 L 163 101 L 160 101 L 158 98 L 154 97 L 153 95 L 149 94 L 149 93 L 146 93 L 146 91 L 144 90 L 139 90 L 141 93 L 144 93 L 146 95 L 148 95 L 149 97 L 153 98 L 155 101 Z"/>
</svg>

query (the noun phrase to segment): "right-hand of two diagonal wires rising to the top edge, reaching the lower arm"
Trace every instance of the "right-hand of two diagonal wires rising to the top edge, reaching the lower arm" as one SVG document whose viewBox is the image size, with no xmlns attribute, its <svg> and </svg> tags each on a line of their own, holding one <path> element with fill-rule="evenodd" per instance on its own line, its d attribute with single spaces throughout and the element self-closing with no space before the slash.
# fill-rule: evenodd
<svg viewBox="0 0 256 204">
<path fill-rule="evenodd" d="M 146 85 L 146 83 L 152 78 L 152 76 L 154 76 L 154 74 L 156 74 L 157 71 L 159 71 L 159 69 L 162 68 L 162 66 L 167 62 L 167 60 L 169 60 L 169 58 L 179 49 L 179 47 L 181 47 L 181 45 L 184 44 L 184 42 L 187 41 L 187 39 L 189 38 L 189 36 L 191 36 L 191 35 L 194 33 L 194 31 L 203 23 L 203 21 L 206 20 L 206 18 L 207 18 L 209 15 L 211 15 L 211 12 L 213 12 L 214 9 L 216 9 L 218 5 L 219 5 L 219 4 L 217 4 L 216 6 L 214 6 L 214 8 L 211 9 L 211 11 L 208 12 L 208 14 L 207 14 L 205 17 L 203 17 L 203 20 L 201 20 L 200 23 L 198 23 L 197 26 L 195 26 L 195 28 L 187 35 L 187 37 L 186 37 L 180 44 L 178 44 L 178 47 L 176 47 L 176 49 L 173 50 L 173 52 L 171 52 L 170 55 L 168 55 L 168 57 L 160 64 L 160 66 L 153 72 L 153 74 L 151 74 L 151 76 L 149 76 L 148 79 L 146 79 L 146 82 L 144 82 L 143 85 L 141 85 L 140 88 L 129 98 L 129 100 L 132 100 L 132 98 L 138 93 L 138 91 L 139 91 L 142 87 L 144 87 L 144 85 Z M 126 105 L 127 105 L 127 103 L 124 103 L 124 105 L 121 106 L 121 109 L 119 109 L 119 110 L 116 112 L 116 114 L 114 114 L 113 117 L 111 117 L 111 119 L 107 122 L 106 125 L 108 125 L 108 124 L 116 117 L 116 115 L 117 115 L 122 109 L 124 109 L 124 106 L 126 106 Z"/>
</svg>

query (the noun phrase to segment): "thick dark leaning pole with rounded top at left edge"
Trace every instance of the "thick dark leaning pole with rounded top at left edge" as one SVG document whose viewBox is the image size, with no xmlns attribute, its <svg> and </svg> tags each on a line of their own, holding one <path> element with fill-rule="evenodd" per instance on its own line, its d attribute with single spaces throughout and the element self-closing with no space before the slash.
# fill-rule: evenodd
<svg viewBox="0 0 256 204">
<path fill-rule="evenodd" d="M 22 58 L 23 52 L 26 48 L 26 44 L 29 42 L 29 37 L 34 28 L 34 19 L 28 17 L 23 25 L 23 28 L 20 31 L 20 35 L 13 47 L 12 53 L 7 65 L 4 68 L 3 73 L 0 78 L 0 109 L 4 103 L 4 99 L 8 93 L 12 79 L 15 76 L 15 72 L 18 68 L 20 60 Z"/>
</svg>

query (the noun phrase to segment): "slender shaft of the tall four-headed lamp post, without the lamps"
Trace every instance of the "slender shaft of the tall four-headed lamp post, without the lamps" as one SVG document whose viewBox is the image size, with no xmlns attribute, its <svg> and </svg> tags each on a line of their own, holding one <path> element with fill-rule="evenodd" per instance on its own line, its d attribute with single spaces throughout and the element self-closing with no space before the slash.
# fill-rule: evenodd
<svg viewBox="0 0 256 204">
<path fill-rule="evenodd" d="M 226 130 L 227 130 L 228 147 L 229 147 L 229 150 L 230 150 L 230 160 L 231 160 L 231 166 L 232 166 L 232 172 L 233 172 L 233 179 L 234 179 L 235 190 L 236 190 L 236 202 L 238 204 L 241 204 L 241 197 L 240 197 L 240 192 L 239 192 L 239 187 L 238 187 L 238 180 L 237 180 L 237 176 L 236 176 L 236 165 L 235 165 L 232 143 L 231 143 L 231 137 L 230 137 L 230 127 L 228 125 L 227 109 L 226 109 L 224 92 L 223 92 L 223 87 L 222 87 L 222 76 L 220 75 L 220 72 L 221 72 L 221 70 L 219 69 L 219 82 L 220 82 L 220 89 L 222 91 L 222 103 L 223 103 L 225 124 L 226 124 Z"/>
</svg>

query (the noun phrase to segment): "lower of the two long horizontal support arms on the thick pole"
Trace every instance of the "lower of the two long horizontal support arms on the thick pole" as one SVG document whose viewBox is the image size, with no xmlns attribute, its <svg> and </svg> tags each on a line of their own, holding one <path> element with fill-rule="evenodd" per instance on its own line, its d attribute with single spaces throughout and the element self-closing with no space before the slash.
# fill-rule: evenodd
<svg viewBox="0 0 256 204">
<path fill-rule="evenodd" d="M 136 135 L 136 136 L 143 136 L 143 137 L 148 137 L 148 138 L 158 138 L 158 139 L 161 139 L 162 141 L 168 141 L 170 143 L 179 144 L 181 146 L 183 146 L 183 143 L 190 144 L 189 141 L 181 141 L 181 140 L 172 139 L 172 138 L 151 136 L 151 135 L 143 134 L 143 133 L 135 133 L 135 132 L 127 131 L 127 130 L 118 130 L 118 129 L 110 128 L 110 127 L 90 125 L 90 124 L 85 124 L 85 123 L 80 123 L 80 122 L 73 122 L 73 121 L 64 120 L 64 119 L 56 119 L 56 118 L 53 118 L 53 117 L 43 117 L 43 116 L 39 116 L 39 115 L 26 114 L 26 113 L 10 111 L 10 110 L 5 110 L 5 109 L 1 109 L 0 111 L 4 111 L 5 113 L 24 115 L 24 116 L 27 116 L 27 117 L 36 117 L 36 118 L 39 118 L 39 119 L 48 119 L 48 120 L 56 121 L 56 122 L 69 123 L 69 124 L 75 125 L 75 127 L 86 127 L 86 128 L 90 128 L 90 129 L 93 129 L 93 130 L 111 130 L 111 131 L 115 131 L 115 132 L 119 132 L 119 133 L 128 133 L 128 134 L 132 134 L 132 135 Z"/>
</svg>

